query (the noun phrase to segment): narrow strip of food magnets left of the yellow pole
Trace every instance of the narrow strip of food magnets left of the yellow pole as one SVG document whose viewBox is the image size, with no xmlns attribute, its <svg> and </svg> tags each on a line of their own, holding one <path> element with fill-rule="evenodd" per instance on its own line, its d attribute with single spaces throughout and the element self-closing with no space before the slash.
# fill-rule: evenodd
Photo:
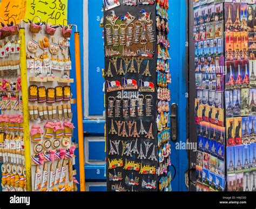
<svg viewBox="0 0 256 209">
<path fill-rule="evenodd" d="M 11 29 L 12 32 L 2 31 L 0 37 L 1 185 L 3 191 L 26 191 L 20 46 L 18 27 L 13 20 Z"/>
</svg>

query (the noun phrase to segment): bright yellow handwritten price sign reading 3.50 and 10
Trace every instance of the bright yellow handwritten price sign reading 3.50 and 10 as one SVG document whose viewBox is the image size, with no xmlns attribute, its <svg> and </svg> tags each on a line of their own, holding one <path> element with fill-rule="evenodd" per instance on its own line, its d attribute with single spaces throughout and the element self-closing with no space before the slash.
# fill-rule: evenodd
<svg viewBox="0 0 256 209">
<path fill-rule="evenodd" d="M 68 0 L 26 0 L 25 19 L 32 20 L 33 17 L 41 17 L 43 22 L 49 17 L 48 22 L 55 24 L 63 24 L 63 20 L 68 18 Z"/>
</svg>

